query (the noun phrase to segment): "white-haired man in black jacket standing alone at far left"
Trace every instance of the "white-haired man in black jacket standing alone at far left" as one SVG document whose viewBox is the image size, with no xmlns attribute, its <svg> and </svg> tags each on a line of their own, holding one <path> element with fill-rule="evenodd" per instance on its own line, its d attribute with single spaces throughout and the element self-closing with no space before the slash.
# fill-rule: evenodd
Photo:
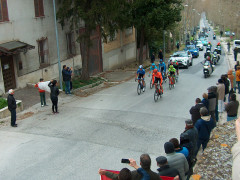
<svg viewBox="0 0 240 180">
<path fill-rule="evenodd" d="M 8 109 L 11 112 L 11 126 L 12 127 L 17 127 L 17 124 L 16 124 L 16 108 L 17 108 L 17 104 L 16 104 L 15 98 L 13 97 L 14 90 L 10 89 L 8 91 L 8 93 L 9 93 L 9 95 L 8 95 L 7 102 L 8 102 Z"/>
</svg>

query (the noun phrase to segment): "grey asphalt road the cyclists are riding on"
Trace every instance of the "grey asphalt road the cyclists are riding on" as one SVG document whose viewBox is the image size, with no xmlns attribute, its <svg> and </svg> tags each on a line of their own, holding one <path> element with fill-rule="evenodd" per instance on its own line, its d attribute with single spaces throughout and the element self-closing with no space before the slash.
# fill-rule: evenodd
<svg viewBox="0 0 240 180">
<path fill-rule="evenodd" d="M 150 154 L 156 171 L 155 158 L 165 154 L 166 141 L 179 138 L 195 98 L 227 72 L 222 55 L 214 73 L 205 79 L 201 61 L 203 52 L 192 67 L 180 71 L 174 89 L 164 84 L 164 95 L 156 103 L 149 78 L 141 95 L 132 79 L 86 98 L 72 97 L 71 103 L 60 107 L 59 115 L 43 111 L 18 122 L 18 128 L 1 128 L 0 179 L 96 180 L 99 168 L 120 170 L 127 167 L 121 158 L 139 163 L 142 153 Z"/>
</svg>

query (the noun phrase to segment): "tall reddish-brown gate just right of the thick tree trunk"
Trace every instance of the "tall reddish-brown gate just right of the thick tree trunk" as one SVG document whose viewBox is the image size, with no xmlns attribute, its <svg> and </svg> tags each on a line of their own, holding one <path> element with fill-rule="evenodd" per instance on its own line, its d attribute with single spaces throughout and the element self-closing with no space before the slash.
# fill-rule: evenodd
<svg viewBox="0 0 240 180">
<path fill-rule="evenodd" d="M 85 28 L 79 30 L 79 34 L 81 35 L 85 32 Z M 83 48 L 84 45 L 80 43 L 80 48 Z M 81 51 L 84 53 L 83 51 Z M 82 54 L 82 57 L 84 55 Z M 101 43 L 101 35 L 100 28 L 91 33 L 91 47 L 89 49 L 89 62 L 88 62 L 88 72 L 90 75 L 94 75 L 103 71 L 102 64 L 102 43 Z"/>
</svg>

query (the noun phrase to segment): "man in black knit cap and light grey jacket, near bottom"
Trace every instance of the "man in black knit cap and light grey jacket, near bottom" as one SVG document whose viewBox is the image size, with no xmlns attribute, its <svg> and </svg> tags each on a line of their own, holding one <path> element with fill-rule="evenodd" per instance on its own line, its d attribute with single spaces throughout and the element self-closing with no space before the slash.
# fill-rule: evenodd
<svg viewBox="0 0 240 180">
<path fill-rule="evenodd" d="M 185 174 L 188 172 L 189 166 L 185 156 L 181 153 L 176 153 L 174 151 L 173 143 L 171 142 L 166 142 L 164 144 L 164 149 L 169 166 L 177 169 L 180 174 L 180 178 L 182 180 L 186 180 Z"/>
</svg>

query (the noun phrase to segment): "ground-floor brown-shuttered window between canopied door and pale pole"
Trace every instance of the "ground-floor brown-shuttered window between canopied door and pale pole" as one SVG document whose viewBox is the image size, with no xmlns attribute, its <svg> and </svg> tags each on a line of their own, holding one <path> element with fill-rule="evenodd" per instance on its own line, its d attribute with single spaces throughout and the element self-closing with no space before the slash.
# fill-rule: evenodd
<svg viewBox="0 0 240 180">
<path fill-rule="evenodd" d="M 48 55 L 49 55 L 49 50 L 48 50 L 48 42 L 47 38 L 42 38 L 37 41 L 38 42 L 38 55 L 39 55 L 39 62 L 40 66 L 42 65 L 48 65 Z"/>
</svg>

